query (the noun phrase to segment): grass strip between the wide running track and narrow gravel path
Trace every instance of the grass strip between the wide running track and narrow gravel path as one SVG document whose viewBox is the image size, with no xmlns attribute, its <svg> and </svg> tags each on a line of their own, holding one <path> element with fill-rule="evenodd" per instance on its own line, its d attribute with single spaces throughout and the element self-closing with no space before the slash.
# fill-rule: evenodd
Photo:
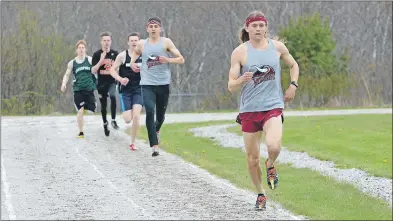
<svg viewBox="0 0 393 221">
<path fill-rule="evenodd" d="M 190 128 L 222 123 L 164 124 L 160 132 L 161 147 L 166 152 L 176 154 L 240 188 L 255 191 L 248 175 L 244 152 L 240 149 L 220 147 L 210 139 L 197 138 L 188 132 Z M 141 127 L 139 137 L 147 140 L 145 127 Z M 386 202 L 365 195 L 352 185 L 285 164 L 279 164 L 278 171 L 280 186 L 274 191 L 267 188 L 268 200 L 279 202 L 296 214 L 325 220 L 392 218 L 392 211 Z M 266 187 L 265 179 L 263 181 Z M 250 199 L 250 207 L 254 200 Z"/>
</svg>

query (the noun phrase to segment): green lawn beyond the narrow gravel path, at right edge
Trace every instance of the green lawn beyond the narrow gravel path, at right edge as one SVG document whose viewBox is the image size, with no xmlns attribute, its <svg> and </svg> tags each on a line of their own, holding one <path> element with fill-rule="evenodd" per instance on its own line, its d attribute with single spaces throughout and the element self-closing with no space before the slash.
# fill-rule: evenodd
<svg viewBox="0 0 393 221">
<path fill-rule="evenodd" d="M 241 135 L 234 126 L 230 132 Z M 287 117 L 282 145 L 340 168 L 392 178 L 392 115 Z"/>
</svg>

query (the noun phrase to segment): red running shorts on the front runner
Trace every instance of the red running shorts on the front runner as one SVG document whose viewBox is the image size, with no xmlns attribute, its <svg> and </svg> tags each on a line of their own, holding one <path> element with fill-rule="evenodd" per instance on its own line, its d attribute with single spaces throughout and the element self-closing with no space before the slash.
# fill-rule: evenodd
<svg viewBox="0 0 393 221">
<path fill-rule="evenodd" d="M 268 111 L 245 112 L 240 113 L 236 122 L 242 125 L 242 131 L 255 133 L 263 130 L 263 125 L 273 117 L 281 116 L 281 122 L 284 123 L 284 113 L 282 108 L 276 108 Z"/>
</svg>

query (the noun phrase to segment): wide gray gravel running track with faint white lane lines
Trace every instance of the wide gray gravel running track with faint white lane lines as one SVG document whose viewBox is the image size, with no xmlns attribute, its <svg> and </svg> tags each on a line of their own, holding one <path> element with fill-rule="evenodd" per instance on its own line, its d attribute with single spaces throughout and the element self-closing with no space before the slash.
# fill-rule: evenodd
<svg viewBox="0 0 393 221">
<path fill-rule="evenodd" d="M 2 119 L 2 219 L 302 218 L 270 201 L 254 211 L 255 194 L 175 155 L 152 158 L 144 143 L 131 152 L 129 137 L 103 136 L 100 121 L 76 139 L 74 121 Z"/>
</svg>

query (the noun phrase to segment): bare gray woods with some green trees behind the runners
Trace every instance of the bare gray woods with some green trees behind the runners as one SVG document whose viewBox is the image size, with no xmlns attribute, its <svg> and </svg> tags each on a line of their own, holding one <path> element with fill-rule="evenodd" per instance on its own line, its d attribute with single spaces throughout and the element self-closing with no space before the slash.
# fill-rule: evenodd
<svg viewBox="0 0 393 221">
<path fill-rule="evenodd" d="M 2 2 L 1 10 L 3 115 L 75 112 L 72 91 L 62 94 L 60 84 L 76 41 L 87 40 L 92 55 L 100 32 L 110 31 L 112 48 L 122 51 L 130 32 L 147 36 L 153 16 L 186 60 L 171 65 L 168 111 L 235 110 L 230 56 L 253 10 L 265 13 L 270 34 L 299 63 L 289 108 L 392 103 L 392 2 Z M 285 90 L 289 70 L 282 68 Z"/>
</svg>

